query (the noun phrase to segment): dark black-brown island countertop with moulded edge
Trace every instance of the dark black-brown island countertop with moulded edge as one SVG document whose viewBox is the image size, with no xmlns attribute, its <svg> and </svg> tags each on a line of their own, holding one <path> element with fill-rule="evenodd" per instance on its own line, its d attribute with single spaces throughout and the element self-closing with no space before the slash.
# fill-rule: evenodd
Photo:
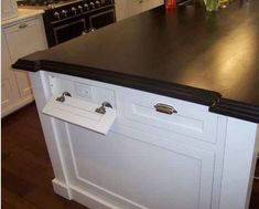
<svg viewBox="0 0 259 209">
<path fill-rule="evenodd" d="M 153 9 L 46 51 L 17 69 L 93 79 L 259 123 L 259 1 Z"/>
</svg>

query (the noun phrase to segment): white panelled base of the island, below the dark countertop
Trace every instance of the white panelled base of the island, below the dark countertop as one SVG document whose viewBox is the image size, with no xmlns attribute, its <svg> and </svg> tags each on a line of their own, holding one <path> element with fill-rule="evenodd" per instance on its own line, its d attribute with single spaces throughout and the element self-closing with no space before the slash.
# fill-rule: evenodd
<svg viewBox="0 0 259 209">
<path fill-rule="evenodd" d="M 247 209 L 257 124 L 86 79 L 43 71 L 31 79 L 56 194 L 91 209 Z M 116 107 L 106 136 L 42 114 L 65 91 L 84 104 Z M 179 115 L 157 113 L 159 102 Z"/>
</svg>

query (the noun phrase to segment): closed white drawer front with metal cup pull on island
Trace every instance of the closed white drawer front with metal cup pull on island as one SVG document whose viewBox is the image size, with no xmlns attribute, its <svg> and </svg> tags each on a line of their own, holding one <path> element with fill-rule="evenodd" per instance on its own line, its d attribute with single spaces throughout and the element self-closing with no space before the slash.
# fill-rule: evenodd
<svg viewBox="0 0 259 209">
<path fill-rule="evenodd" d="M 157 104 L 172 106 L 177 113 L 155 109 Z M 162 109 L 163 112 L 164 109 Z M 123 124 L 144 132 L 172 132 L 208 143 L 216 143 L 217 121 L 208 107 L 140 91 L 123 92 Z"/>
</svg>

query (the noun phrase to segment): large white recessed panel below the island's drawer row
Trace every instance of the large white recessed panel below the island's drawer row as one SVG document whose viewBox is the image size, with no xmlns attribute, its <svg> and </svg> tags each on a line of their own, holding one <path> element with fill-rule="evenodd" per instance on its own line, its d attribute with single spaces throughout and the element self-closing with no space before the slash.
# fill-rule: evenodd
<svg viewBox="0 0 259 209">
<path fill-rule="evenodd" d="M 107 200 L 121 201 L 120 208 L 209 208 L 214 153 L 174 143 L 153 146 L 117 133 L 104 137 L 71 124 L 66 133 L 71 181 L 84 190 L 116 194 L 123 203 L 116 196 Z"/>
</svg>

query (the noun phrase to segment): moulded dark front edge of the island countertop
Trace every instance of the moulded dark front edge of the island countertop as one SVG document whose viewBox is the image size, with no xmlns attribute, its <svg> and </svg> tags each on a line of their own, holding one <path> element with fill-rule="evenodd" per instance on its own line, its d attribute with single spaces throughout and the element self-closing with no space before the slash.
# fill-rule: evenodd
<svg viewBox="0 0 259 209">
<path fill-rule="evenodd" d="M 181 85 L 176 83 L 166 83 L 148 77 L 139 77 L 123 73 L 111 72 L 68 63 L 53 61 L 28 61 L 19 59 L 12 67 L 30 72 L 40 70 L 62 73 L 72 76 L 90 79 L 99 82 L 131 87 L 163 96 L 174 97 L 208 106 L 208 111 L 225 116 L 231 116 L 252 123 L 259 123 L 259 107 L 238 101 L 231 101 L 222 97 L 220 93 Z"/>
</svg>

